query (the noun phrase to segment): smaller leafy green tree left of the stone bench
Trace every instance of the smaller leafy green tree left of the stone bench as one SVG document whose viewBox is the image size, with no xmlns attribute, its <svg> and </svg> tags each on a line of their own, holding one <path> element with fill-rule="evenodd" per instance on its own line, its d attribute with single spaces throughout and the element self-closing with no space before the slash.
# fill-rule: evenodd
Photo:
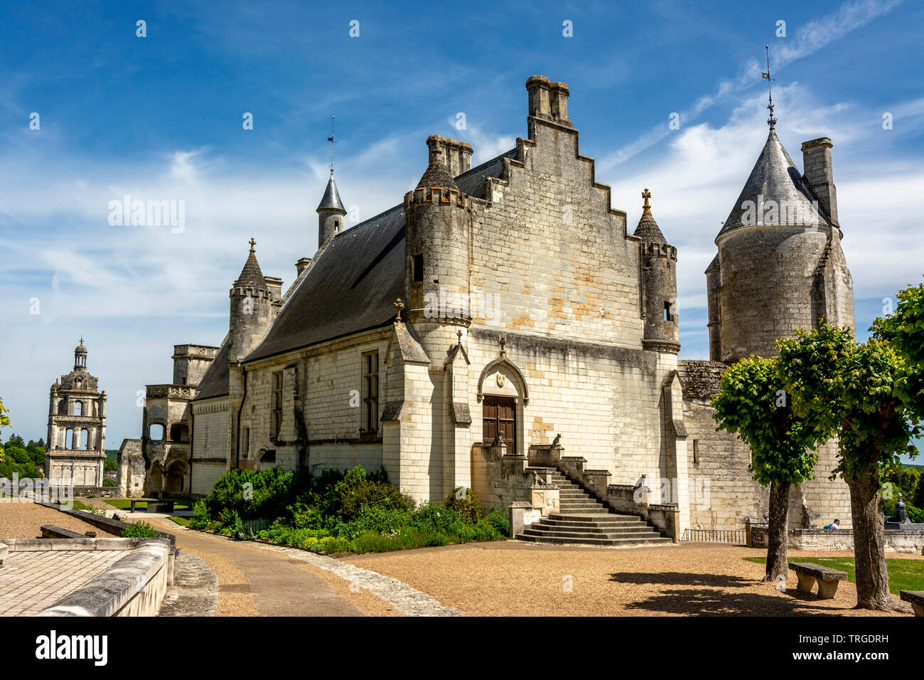
<svg viewBox="0 0 924 680">
<path fill-rule="evenodd" d="M 798 416 L 783 389 L 775 359 L 751 356 L 730 366 L 712 397 L 716 429 L 736 434 L 751 450 L 748 471 L 770 486 L 765 581 L 786 579 L 789 491 L 810 479 L 818 463 L 814 451 L 825 441 L 808 416 Z"/>
</svg>

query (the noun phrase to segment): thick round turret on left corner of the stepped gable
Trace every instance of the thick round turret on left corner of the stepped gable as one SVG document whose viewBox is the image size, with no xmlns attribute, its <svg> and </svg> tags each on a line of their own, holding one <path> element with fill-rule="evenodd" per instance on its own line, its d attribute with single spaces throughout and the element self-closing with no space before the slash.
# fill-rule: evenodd
<svg viewBox="0 0 924 680">
<path fill-rule="evenodd" d="M 470 205 L 437 149 L 417 189 L 405 196 L 407 319 L 419 330 L 421 341 L 435 328 L 471 323 Z M 451 328 L 444 335 L 450 344 L 456 340 Z"/>
</svg>

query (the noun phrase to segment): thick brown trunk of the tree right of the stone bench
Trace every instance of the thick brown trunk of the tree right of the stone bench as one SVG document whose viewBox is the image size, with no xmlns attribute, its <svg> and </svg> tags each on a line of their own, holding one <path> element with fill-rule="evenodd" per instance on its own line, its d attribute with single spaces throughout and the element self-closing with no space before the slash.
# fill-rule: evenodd
<svg viewBox="0 0 924 680">
<path fill-rule="evenodd" d="M 854 523 L 857 609 L 911 613 L 910 607 L 894 600 L 889 592 L 879 476 L 868 472 L 856 478 L 847 477 L 845 481 L 850 488 L 850 513 Z"/>
</svg>

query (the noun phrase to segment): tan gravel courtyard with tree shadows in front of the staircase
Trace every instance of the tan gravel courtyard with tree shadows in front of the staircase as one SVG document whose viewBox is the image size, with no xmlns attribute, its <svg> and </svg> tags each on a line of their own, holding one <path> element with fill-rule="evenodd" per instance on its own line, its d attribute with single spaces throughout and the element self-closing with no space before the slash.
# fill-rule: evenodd
<svg viewBox="0 0 924 680">
<path fill-rule="evenodd" d="M 765 555 L 766 550 L 703 543 L 610 550 L 505 541 L 350 556 L 343 562 L 394 576 L 480 616 L 890 615 L 853 610 L 856 587 L 845 581 L 833 600 L 815 600 L 796 592 L 796 575 L 789 572 L 780 592 L 761 581 L 763 564 L 742 559 Z"/>
</svg>

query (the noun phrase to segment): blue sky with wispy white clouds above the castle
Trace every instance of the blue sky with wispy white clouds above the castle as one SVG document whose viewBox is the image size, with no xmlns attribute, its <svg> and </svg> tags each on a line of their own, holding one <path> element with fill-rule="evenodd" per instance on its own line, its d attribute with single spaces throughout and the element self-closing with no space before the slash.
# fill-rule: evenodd
<svg viewBox="0 0 924 680">
<path fill-rule="evenodd" d="M 834 142 L 858 335 L 883 298 L 922 273 L 920 3 L 103 2 L 5 12 L 0 395 L 27 438 L 45 436 L 48 388 L 70 370 L 81 334 L 109 395 L 107 447 L 117 448 L 140 435 L 138 390 L 170 381 L 173 344 L 222 340 L 251 236 L 264 274 L 292 281 L 295 261 L 317 246 L 332 115 L 340 193 L 364 219 L 419 179 L 428 135 L 471 142 L 475 162 L 526 136 L 524 82 L 537 73 L 568 84 L 581 152 L 597 159 L 631 228 L 650 188 L 680 252 L 682 357 L 708 357 L 703 270 L 766 138 L 765 43 L 777 130 L 796 165 L 801 142 Z M 253 130 L 242 127 L 246 112 Z M 668 128 L 672 113 L 679 130 Z M 125 194 L 182 201 L 185 229 L 110 225 L 109 203 Z"/>
</svg>

